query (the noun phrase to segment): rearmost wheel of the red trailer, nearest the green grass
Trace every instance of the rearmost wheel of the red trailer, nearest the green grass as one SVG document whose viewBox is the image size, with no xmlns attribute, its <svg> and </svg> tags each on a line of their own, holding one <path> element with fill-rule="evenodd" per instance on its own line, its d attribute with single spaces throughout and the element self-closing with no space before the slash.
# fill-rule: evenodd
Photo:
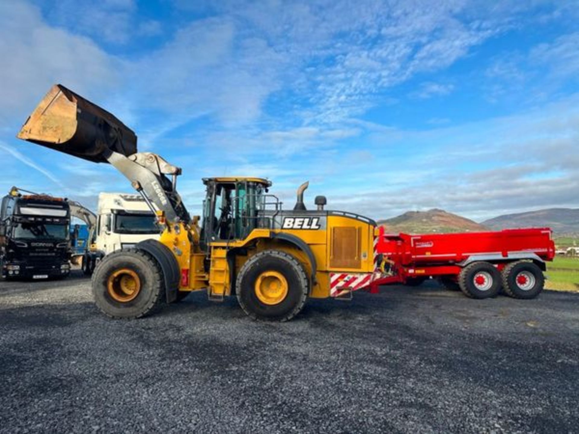
<svg viewBox="0 0 579 434">
<path fill-rule="evenodd" d="M 503 269 L 504 292 L 515 299 L 534 299 L 543 290 L 543 271 L 532 262 L 512 262 Z"/>
</svg>

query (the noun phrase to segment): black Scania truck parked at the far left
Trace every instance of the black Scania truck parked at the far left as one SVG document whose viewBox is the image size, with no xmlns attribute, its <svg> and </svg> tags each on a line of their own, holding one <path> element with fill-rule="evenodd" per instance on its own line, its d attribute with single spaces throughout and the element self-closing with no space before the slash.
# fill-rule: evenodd
<svg viewBox="0 0 579 434">
<path fill-rule="evenodd" d="M 2 198 L 2 278 L 67 277 L 71 255 L 68 200 L 21 192 L 26 191 L 12 187 L 10 193 Z"/>
</svg>

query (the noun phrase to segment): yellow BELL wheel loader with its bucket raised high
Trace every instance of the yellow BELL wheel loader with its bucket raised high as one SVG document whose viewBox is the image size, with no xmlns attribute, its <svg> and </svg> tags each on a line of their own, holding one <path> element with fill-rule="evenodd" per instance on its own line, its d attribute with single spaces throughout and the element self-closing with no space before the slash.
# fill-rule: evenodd
<svg viewBox="0 0 579 434">
<path fill-rule="evenodd" d="M 207 290 L 215 301 L 237 296 L 252 318 L 287 321 L 309 297 L 350 299 L 382 273 L 374 252 L 376 223 L 325 209 L 323 196 L 316 197 L 315 209 L 306 209 L 307 182 L 293 209 L 283 209 L 267 179 L 205 178 L 203 218 L 190 218 L 177 193 L 181 169 L 154 153 L 137 152 L 133 131 L 60 84 L 17 137 L 112 164 L 162 223 L 159 241 L 111 253 L 94 270 L 94 300 L 109 317 L 143 317 L 191 291 Z"/>
</svg>

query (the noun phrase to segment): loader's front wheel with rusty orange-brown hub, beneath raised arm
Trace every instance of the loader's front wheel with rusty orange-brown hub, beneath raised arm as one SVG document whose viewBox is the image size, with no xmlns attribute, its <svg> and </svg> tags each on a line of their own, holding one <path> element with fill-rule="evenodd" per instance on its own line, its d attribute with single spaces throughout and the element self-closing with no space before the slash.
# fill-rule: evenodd
<svg viewBox="0 0 579 434">
<path fill-rule="evenodd" d="M 113 252 L 93 274 L 97 307 L 111 318 L 141 318 L 157 310 L 164 299 L 163 274 L 155 259 L 140 250 Z"/>
</svg>

